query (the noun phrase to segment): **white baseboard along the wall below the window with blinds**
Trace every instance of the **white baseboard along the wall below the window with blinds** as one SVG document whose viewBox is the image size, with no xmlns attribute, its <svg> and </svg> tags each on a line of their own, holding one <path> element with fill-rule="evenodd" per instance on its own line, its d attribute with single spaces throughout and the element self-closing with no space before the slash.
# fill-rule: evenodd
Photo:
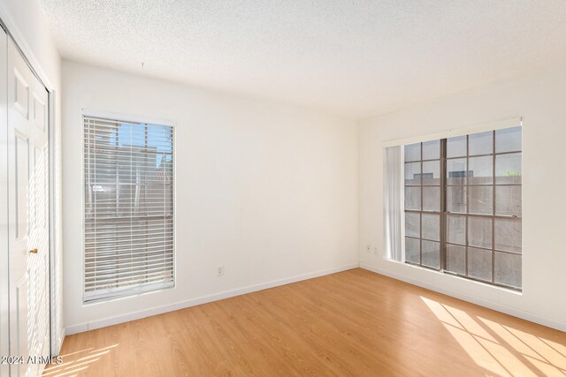
<svg viewBox="0 0 566 377">
<path fill-rule="evenodd" d="M 96 328 L 105 328 L 107 326 L 112 326 L 112 325 L 117 325 L 119 323 L 123 323 L 123 322 L 127 322 L 130 320 L 139 320 L 145 317 L 150 317 L 152 315 L 156 315 L 156 314 L 161 314 L 161 313 L 167 313 L 167 312 L 172 312 L 175 310 L 180 310 L 180 309 L 185 309 L 187 307 L 190 306 L 195 306 L 195 305 L 202 305 L 202 304 L 207 304 L 210 303 L 212 301 L 218 301 L 224 298 L 233 298 L 235 296 L 240 296 L 246 293 L 251 293 L 251 292 L 255 292 L 257 290 L 266 290 L 268 288 L 273 288 L 273 287 L 278 287 L 280 285 L 286 285 L 286 284 L 290 284 L 290 283 L 296 283 L 296 282 L 301 282 L 302 280 L 308 280 L 308 279 L 312 279 L 314 277 L 319 277 L 319 276 L 324 276 L 324 275 L 330 275 L 330 274 L 335 274 L 337 272 L 342 272 L 342 271 L 346 271 L 348 269 L 352 269 L 352 268 L 359 268 L 359 264 L 351 264 L 348 266 L 343 266 L 343 267 L 339 267 L 339 268 L 330 268 L 330 269 L 325 269 L 322 271 L 315 271 L 309 274 L 303 274 L 303 275 L 296 275 L 296 276 L 292 276 L 292 277 L 287 277 L 284 279 L 279 279 L 279 280 L 274 280 L 272 282 L 268 282 L 268 283 L 261 283 L 261 284 L 256 284 L 256 285 L 249 285 L 247 287 L 242 287 L 242 288 L 238 288 L 235 290 L 225 290 L 223 292 L 219 292 L 219 293 L 215 293 L 209 296 L 203 296 L 200 298 L 191 298 L 189 300 L 186 301 L 181 301 L 179 303 L 176 304 L 172 304 L 172 305 L 164 305 L 164 306 L 158 306 L 158 307 L 154 307 L 148 310 L 143 310 L 143 311 L 139 311 L 139 312 L 133 312 L 133 313 L 126 313 L 126 314 L 122 314 L 122 315 L 118 315 L 115 317 L 110 317 L 110 318 L 104 318 L 102 320 L 93 320 L 93 321 L 89 321 L 88 323 L 82 323 L 79 325 L 73 325 L 73 326 L 67 326 L 65 328 L 65 334 L 70 336 L 73 334 L 78 334 L 78 333 L 82 333 L 85 331 L 89 331 L 89 330 L 94 330 Z"/>
</svg>

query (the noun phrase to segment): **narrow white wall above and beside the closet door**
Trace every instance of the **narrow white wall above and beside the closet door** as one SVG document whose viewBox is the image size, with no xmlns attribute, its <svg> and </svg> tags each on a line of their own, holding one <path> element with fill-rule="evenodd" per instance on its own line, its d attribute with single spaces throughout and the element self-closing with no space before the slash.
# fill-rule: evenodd
<svg viewBox="0 0 566 377">
<path fill-rule="evenodd" d="M 54 275 L 51 276 L 53 289 L 51 300 L 51 325 L 53 330 L 52 351 L 57 354 L 65 336 L 62 307 L 62 226 L 61 226 L 61 59 L 57 52 L 50 29 L 43 17 L 43 11 L 37 0 L 2 0 L 0 1 L 0 18 L 14 36 L 19 47 L 38 72 L 50 91 L 55 94 L 55 145 L 51 153 L 55 153 L 55 250 L 51 251 Z"/>
</svg>

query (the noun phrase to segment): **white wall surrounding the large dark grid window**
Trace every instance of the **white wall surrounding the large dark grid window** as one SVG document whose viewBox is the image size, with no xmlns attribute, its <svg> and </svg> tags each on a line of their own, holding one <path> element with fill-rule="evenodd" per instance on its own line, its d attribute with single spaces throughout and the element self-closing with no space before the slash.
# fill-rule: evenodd
<svg viewBox="0 0 566 377">
<path fill-rule="evenodd" d="M 523 294 L 383 259 L 382 143 L 523 117 Z M 364 120 L 359 128 L 363 268 L 566 330 L 566 70 L 530 73 Z M 364 245 L 376 245 L 378 254 Z"/>
</svg>

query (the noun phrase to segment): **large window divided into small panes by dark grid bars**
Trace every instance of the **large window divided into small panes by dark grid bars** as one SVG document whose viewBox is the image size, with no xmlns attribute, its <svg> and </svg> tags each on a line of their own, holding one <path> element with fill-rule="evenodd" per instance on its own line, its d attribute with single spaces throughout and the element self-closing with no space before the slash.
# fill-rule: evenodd
<svg viewBox="0 0 566 377">
<path fill-rule="evenodd" d="M 405 261 L 522 287 L 521 127 L 407 145 Z"/>
</svg>

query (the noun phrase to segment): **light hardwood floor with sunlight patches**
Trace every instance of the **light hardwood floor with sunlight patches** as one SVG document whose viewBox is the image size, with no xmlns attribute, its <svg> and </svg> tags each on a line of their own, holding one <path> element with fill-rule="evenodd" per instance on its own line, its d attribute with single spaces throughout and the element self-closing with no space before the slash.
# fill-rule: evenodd
<svg viewBox="0 0 566 377">
<path fill-rule="evenodd" d="M 67 336 L 55 376 L 566 376 L 566 333 L 363 269 Z"/>
</svg>

